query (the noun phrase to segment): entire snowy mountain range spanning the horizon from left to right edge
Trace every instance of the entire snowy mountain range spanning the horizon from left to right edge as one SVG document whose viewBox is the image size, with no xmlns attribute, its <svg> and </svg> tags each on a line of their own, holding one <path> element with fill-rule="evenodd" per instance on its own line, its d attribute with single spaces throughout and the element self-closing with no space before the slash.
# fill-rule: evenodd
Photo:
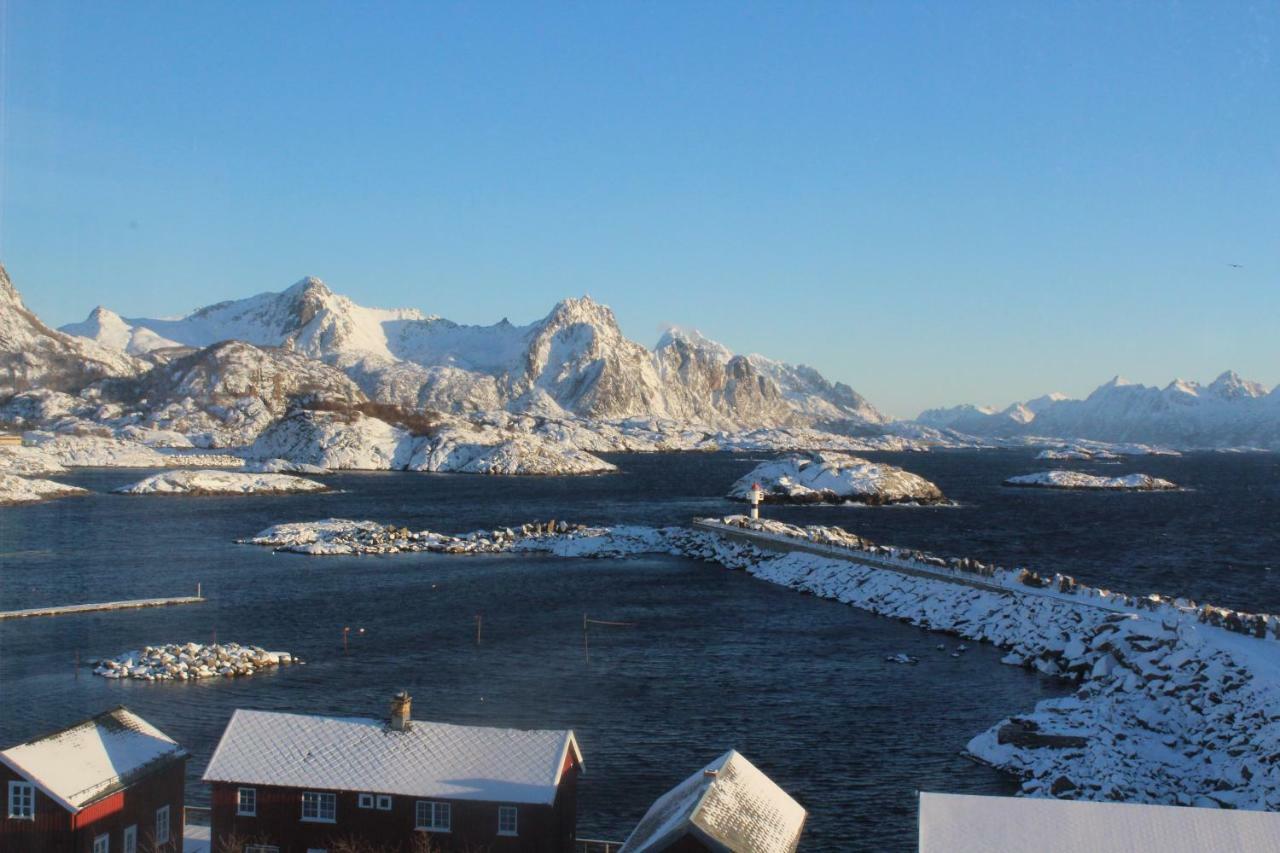
<svg viewBox="0 0 1280 853">
<path fill-rule="evenodd" d="M 14 423 L 137 423 L 223 447 L 255 441 L 302 405 L 383 407 L 401 414 L 397 423 L 406 412 L 454 423 L 488 412 L 494 429 L 516 423 L 509 418 L 544 424 L 538 429 L 564 424 L 556 429 L 595 450 L 617 446 L 616 437 L 598 446 L 586 437 L 603 435 L 602 424 L 650 430 L 659 444 L 685 430 L 681 446 L 705 441 L 698 434 L 790 430 L 787 444 L 888 434 L 918 444 L 978 437 L 1280 450 L 1280 388 L 1231 371 L 1164 388 L 1116 378 L 1084 400 L 1046 394 L 1002 410 L 955 406 L 891 421 L 812 368 L 737 355 L 695 330 L 671 328 L 645 347 L 588 296 L 525 325 L 463 325 L 416 309 L 365 307 L 315 278 L 177 319 L 123 318 L 100 306 L 55 330 L 23 305 L 0 266 L 0 400 Z"/>
</svg>

